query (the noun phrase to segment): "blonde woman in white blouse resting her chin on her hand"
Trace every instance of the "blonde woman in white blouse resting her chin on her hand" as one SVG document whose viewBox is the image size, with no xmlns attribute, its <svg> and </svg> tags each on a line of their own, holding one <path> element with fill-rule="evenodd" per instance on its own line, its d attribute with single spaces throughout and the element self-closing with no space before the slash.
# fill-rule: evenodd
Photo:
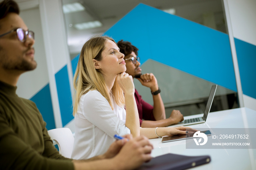
<svg viewBox="0 0 256 170">
<path fill-rule="evenodd" d="M 74 76 L 72 158 L 85 159 L 106 152 L 114 142 L 114 134 L 147 138 L 185 134 L 185 127 L 140 128 L 133 80 L 125 70 L 124 54 L 112 38 L 93 37 L 82 47 Z"/>
</svg>

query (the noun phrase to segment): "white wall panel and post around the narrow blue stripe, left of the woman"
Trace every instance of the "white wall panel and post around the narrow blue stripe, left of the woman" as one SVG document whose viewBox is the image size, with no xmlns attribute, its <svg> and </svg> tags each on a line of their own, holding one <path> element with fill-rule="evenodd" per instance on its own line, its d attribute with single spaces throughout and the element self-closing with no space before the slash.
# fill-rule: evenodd
<svg viewBox="0 0 256 170">
<path fill-rule="evenodd" d="M 46 62 L 54 121 L 56 128 L 60 128 L 63 127 L 63 125 L 60 115 L 55 74 L 65 65 L 67 65 L 69 85 L 71 87 L 71 93 L 73 94 L 73 73 L 65 33 L 61 0 L 39 0 L 39 10 L 46 48 Z"/>
</svg>

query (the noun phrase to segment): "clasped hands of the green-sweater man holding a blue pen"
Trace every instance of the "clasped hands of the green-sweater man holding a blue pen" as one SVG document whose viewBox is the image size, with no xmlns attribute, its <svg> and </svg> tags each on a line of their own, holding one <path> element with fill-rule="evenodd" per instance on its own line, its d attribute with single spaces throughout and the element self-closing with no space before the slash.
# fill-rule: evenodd
<svg viewBox="0 0 256 170">
<path fill-rule="evenodd" d="M 128 169 L 134 169 L 143 162 L 151 160 L 153 146 L 146 137 L 132 138 L 132 135 L 124 135 L 117 136 L 117 139 L 103 156 L 115 159 L 114 162 L 119 164 L 120 169 L 127 168 L 128 160 Z"/>
</svg>

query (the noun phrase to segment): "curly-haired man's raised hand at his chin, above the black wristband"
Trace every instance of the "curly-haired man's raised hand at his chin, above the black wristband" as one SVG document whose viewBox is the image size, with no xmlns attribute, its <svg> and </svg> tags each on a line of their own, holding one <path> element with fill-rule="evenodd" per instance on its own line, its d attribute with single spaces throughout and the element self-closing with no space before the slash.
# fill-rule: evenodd
<svg viewBox="0 0 256 170">
<path fill-rule="evenodd" d="M 143 86 L 149 87 L 152 92 L 158 90 L 157 78 L 153 73 L 142 74 L 138 80 Z"/>
</svg>

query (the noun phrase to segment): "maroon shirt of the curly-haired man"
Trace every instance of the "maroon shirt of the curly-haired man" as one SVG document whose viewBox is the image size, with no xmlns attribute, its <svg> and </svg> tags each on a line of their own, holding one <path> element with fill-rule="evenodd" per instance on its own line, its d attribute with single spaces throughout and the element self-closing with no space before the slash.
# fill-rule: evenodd
<svg viewBox="0 0 256 170">
<path fill-rule="evenodd" d="M 138 91 L 135 89 L 134 97 L 136 100 L 136 104 L 138 107 L 139 118 L 140 118 L 140 126 L 142 124 L 142 119 L 144 120 L 155 120 L 153 115 L 153 106 L 147 103 L 142 99 Z"/>
</svg>

